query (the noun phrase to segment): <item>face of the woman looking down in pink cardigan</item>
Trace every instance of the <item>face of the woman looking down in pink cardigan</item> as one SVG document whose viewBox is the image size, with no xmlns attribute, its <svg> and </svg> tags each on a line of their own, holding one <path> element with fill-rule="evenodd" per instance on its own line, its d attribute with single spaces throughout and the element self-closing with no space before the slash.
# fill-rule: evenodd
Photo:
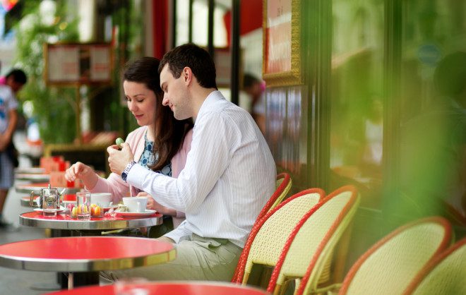
<svg viewBox="0 0 466 295">
<path fill-rule="evenodd" d="M 155 123 L 157 98 L 155 93 L 143 83 L 124 81 L 124 95 L 128 109 L 138 121 L 139 126 L 150 126 Z"/>
</svg>

